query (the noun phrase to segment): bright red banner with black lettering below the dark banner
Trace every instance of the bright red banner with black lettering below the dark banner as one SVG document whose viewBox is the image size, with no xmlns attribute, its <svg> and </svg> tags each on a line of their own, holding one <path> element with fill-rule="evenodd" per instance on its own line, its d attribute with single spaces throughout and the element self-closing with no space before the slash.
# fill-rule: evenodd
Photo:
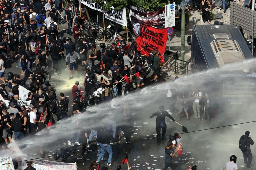
<svg viewBox="0 0 256 170">
<path fill-rule="evenodd" d="M 159 29 L 149 25 L 141 25 L 141 36 L 136 38 L 138 50 L 144 47 L 141 54 L 146 54 L 146 56 L 149 56 L 152 50 L 164 54 L 167 36 L 166 28 Z M 159 57 L 161 58 L 161 62 L 164 62 L 163 57 L 161 55 Z"/>
</svg>

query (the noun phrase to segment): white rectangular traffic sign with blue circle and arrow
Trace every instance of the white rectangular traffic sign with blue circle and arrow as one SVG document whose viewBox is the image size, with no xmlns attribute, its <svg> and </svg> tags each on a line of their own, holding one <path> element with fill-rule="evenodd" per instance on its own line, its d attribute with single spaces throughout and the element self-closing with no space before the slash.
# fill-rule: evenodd
<svg viewBox="0 0 256 170">
<path fill-rule="evenodd" d="M 175 26 L 175 4 L 165 5 L 165 28 Z"/>
</svg>

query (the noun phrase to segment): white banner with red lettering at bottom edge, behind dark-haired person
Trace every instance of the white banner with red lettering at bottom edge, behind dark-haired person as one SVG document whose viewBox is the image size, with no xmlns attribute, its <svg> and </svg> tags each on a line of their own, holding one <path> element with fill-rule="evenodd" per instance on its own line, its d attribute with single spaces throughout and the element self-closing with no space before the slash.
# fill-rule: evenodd
<svg viewBox="0 0 256 170">
<path fill-rule="evenodd" d="M 26 158 L 29 159 L 29 158 Z M 33 159 L 34 168 L 36 170 L 77 170 L 76 163 L 63 163 L 63 162 L 55 162 L 55 161 L 46 161 L 40 159 Z M 18 163 L 18 169 L 23 170 L 27 168 L 27 163 L 25 161 Z M 14 170 L 14 169 L 13 169 Z"/>
</svg>

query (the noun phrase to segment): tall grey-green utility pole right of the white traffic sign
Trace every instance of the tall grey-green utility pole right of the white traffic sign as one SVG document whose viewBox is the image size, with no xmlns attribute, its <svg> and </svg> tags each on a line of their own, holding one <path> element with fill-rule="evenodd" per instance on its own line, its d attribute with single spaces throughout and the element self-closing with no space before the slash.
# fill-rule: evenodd
<svg viewBox="0 0 256 170">
<path fill-rule="evenodd" d="M 182 0 L 182 17 L 181 17 L 181 60 L 185 60 L 185 0 Z M 182 61 L 182 64 L 184 62 Z"/>
</svg>

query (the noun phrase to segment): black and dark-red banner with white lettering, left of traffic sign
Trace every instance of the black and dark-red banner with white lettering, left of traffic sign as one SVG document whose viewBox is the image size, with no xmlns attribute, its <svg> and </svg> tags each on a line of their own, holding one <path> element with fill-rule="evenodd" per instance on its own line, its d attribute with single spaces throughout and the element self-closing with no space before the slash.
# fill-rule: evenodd
<svg viewBox="0 0 256 170">
<path fill-rule="evenodd" d="M 129 17 L 130 21 L 135 23 L 140 23 L 143 25 L 161 25 L 164 24 L 164 7 L 158 11 L 146 11 L 144 9 L 139 9 L 137 6 L 129 6 Z"/>
</svg>

